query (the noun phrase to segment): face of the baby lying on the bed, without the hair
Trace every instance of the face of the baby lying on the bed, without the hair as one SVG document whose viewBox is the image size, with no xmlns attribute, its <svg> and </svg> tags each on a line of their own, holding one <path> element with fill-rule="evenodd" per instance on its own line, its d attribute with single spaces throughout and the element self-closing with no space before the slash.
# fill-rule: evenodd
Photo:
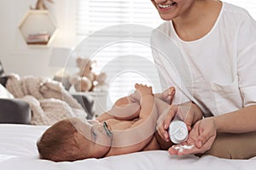
<svg viewBox="0 0 256 170">
<path fill-rule="evenodd" d="M 84 158 L 100 158 L 111 148 L 112 134 L 106 124 L 97 121 L 74 119 L 77 128 L 79 148 Z"/>
</svg>

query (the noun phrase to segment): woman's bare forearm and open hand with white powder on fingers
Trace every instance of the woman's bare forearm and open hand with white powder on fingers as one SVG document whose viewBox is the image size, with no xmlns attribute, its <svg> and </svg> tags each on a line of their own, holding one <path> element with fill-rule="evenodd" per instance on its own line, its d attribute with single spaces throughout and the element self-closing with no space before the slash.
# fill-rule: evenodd
<svg viewBox="0 0 256 170">
<path fill-rule="evenodd" d="M 189 139 L 183 144 L 194 145 L 191 150 L 169 149 L 171 155 L 204 153 L 211 149 L 217 133 L 247 133 L 256 131 L 256 105 L 247 106 L 220 116 L 212 116 L 195 123 Z"/>
</svg>

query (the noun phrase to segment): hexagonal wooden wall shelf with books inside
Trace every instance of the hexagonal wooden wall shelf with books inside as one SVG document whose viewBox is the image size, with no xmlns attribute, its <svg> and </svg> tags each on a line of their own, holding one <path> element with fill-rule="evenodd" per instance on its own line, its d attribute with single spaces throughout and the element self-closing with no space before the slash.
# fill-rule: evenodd
<svg viewBox="0 0 256 170">
<path fill-rule="evenodd" d="M 20 33 L 29 46 L 49 46 L 57 26 L 48 10 L 29 10 L 20 22 Z"/>
</svg>

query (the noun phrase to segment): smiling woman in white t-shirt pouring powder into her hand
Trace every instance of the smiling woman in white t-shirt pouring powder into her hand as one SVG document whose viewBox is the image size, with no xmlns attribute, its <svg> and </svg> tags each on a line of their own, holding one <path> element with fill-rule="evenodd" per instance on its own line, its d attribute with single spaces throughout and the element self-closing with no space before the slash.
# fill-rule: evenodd
<svg viewBox="0 0 256 170">
<path fill-rule="evenodd" d="M 154 60 L 161 79 L 172 86 L 173 77 L 163 63 L 166 38 L 177 45 L 181 57 L 189 65 L 193 84 L 181 76 L 189 95 L 159 121 L 160 141 L 170 143 L 167 128 L 183 102 L 198 105 L 205 118 L 196 112 L 184 112 L 191 150 L 175 150 L 171 155 L 210 154 L 212 156 L 247 159 L 256 156 L 256 22 L 243 8 L 218 0 L 151 0 L 166 22 L 152 34 Z M 166 37 L 160 37 L 161 32 Z M 162 40 L 162 43 L 161 43 Z M 165 67 L 163 68 L 163 65 Z M 170 65 L 172 67 L 173 65 Z M 180 65 L 175 68 L 183 74 Z M 170 80 L 167 80 L 170 78 Z M 169 81 L 169 82 L 168 82 Z M 177 85 L 174 83 L 174 85 Z"/>
</svg>

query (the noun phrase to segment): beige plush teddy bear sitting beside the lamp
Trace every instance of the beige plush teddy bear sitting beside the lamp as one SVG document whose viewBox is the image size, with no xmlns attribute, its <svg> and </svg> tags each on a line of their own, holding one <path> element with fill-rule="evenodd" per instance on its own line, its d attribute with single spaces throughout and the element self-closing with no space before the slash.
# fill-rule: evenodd
<svg viewBox="0 0 256 170">
<path fill-rule="evenodd" d="M 95 85 L 100 86 L 106 84 L 105 80 L 107 76 L 105 73 L 96 75 L 92 71 L 93 66 L 96 65 L 95 60 L 79 57 L 76 59 L 76 62 L 79 72 L 70 78 L 70 82 L 77 92 L 93 91 Z"/>
</svg>

